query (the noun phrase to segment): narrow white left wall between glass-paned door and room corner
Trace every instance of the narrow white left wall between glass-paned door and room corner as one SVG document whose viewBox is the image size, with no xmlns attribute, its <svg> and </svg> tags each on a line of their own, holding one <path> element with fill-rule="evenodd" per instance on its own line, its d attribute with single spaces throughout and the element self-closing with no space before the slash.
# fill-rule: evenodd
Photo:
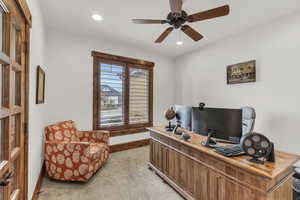
<svg viewBox="0 0 300 200">
<path fill-rule="evenodd" d="M 29 166 L 28 199 L 31 199 L 43 161 L 43 129 L 45 127 L 46 104 L 35 104 L 36 69 L 41 65 L 47 73 L 44 62 L 45 27 L 39 0 L 28 0 L 33 17 L 30 38 L 30 88 L 29 88 Z M 47 99 L 47 98 L 46 98 Z"/>
</svg>

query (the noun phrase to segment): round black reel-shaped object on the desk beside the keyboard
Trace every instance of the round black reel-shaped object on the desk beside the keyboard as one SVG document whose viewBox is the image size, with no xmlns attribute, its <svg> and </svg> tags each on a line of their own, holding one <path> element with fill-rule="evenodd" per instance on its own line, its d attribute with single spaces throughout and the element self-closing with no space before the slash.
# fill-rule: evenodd
<svg viewBox="0 0 300 200">
<path fill-rule="evenodd" d="M 275 162 L 274 144 L 260 133 L 248 133 L 241 139 L 243 151 L 251 156 L 250 162 L 264 164 L 265 161 Z"/>
</svg>

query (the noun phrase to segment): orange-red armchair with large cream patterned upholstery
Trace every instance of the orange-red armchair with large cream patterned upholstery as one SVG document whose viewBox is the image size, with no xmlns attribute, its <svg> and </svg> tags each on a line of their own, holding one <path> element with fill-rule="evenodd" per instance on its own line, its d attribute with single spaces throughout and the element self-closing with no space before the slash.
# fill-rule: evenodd
<svg viewBox="0 0 300 200">
<path fill-rule="evenodd" d="M 109 158 L 109 132 L 77 131 L 73 121 L 45 129 L 45 163 L 50 178 L 88 181 Z"/>
</svg>

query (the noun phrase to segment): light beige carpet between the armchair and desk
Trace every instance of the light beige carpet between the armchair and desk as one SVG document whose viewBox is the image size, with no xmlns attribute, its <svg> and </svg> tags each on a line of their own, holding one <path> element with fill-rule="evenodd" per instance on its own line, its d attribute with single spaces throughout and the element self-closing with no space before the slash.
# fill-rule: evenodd
<svg viewBox="0 0 300 200">
<path fill-rule="evenodd" d="M 111 154 L 88 183 L 44 179 L 39 200 L 183 200 L 148 169 L 149 147 Z"/>
</svg>

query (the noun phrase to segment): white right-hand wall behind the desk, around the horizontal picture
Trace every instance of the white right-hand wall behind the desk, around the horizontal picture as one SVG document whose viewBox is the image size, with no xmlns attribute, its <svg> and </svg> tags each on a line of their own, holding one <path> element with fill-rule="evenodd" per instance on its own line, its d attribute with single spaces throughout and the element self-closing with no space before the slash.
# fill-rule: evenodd
<svg viewBox="0 0 300 200">
<path fill-rule="evenodd" d="M 177 103 L 257 110 L 255 130 L 300 154 L 300 15 L 256 27 L 176 59 Z M 257 60 L 256 83 L 226 84 L 226 66 Z"/>
</svg>

